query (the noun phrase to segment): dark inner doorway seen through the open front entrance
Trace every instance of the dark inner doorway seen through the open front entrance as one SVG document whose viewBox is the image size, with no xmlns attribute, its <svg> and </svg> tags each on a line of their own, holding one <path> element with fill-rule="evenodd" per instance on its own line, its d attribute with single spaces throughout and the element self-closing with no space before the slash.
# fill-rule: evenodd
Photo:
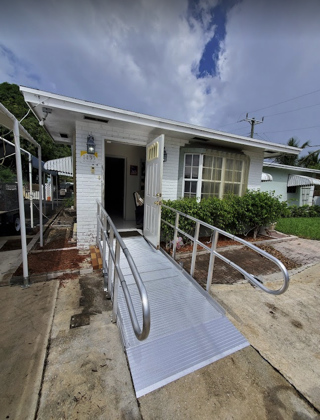
<svg viewBox="0 0 320 420">
<path fill-rule="evenodd" d="M 105 158 L 104 208 L 113 216 L 123 217 L 125 196 L 125 159 Z"/>
</svg>

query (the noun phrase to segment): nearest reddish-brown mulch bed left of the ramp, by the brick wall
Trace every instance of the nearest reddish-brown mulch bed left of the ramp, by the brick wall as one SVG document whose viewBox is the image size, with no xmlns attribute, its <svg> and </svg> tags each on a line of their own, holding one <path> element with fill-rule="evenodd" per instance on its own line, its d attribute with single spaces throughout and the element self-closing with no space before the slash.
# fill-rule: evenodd
<svg viewBox="0 0 320 420">
<path fill-rule="evenodd" d="M 79 250 L 64 250 L 29 254 L 29 274 L 40 274 L 58 270 L 78 270 L 87 258 L 91 261 L 89 250 L 86 253 Z M 23 275 L 22 264 L 14 273 L 14 276 L 21 275 Z"/>
</svg>

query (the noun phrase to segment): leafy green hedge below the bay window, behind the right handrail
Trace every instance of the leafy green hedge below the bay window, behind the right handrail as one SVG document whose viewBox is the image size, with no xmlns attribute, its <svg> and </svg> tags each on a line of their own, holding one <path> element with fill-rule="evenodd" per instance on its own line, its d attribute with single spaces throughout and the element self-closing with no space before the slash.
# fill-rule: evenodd
<svg viewBox="0 0 320 420">
<path fill-rule="evenodd" d="M 163 203 L 233 235 L 254 229 L 256 236 L 260 226 L 268 226 L 288 214 L 286 202 L 281 202 L 274 193 L 261 191 L 247 191 L 242 197 L 227 193 L 223 199 L 212 197 L 197 202 L 195 198 L 182 198 Z M 172 225 L 175 217 L 173 211 L 162 209 L 162 218 Z M 180 216 L 179 227 L 192 234 L 195 222 Z M 173 239 L 173 228 L 162 223 L 161 230 L 167 242 Z"/>
</svg>

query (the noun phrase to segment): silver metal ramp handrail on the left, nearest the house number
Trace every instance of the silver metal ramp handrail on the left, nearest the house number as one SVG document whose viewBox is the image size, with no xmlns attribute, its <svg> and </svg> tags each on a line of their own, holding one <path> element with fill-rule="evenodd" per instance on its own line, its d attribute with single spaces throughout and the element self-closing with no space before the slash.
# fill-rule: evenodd
<svg viewBox="0 0 320 420">
<path fill-rule="evenodd" d="M 101 220 L 101 214 L 102 219 Z M 110 233 L 108 236 L 107 225 L 109 224 Z M 103 233 L 103 246 L 101 249 L 100 237 L 101 231 Z M 116 250 L 113 250 L 113 241 L 116 240 Z M 114 283 L 113 283 L 113 311 L 112 311 L 112 322 L 116 322 L 117 319 L 117 304 L 118 304 L 118 280 L 120 280 L 123 293 L 127 302 L 129 315 L 134 329 L 134 333 L 138 340 L 142 341 L 149 335 L 150 332 L 150 306 L 148 295 L 145 289 L 145 286 L 141 280 L 140 274 L 137 270 L 136 264 L 126 246 L 123 242 L 117 228 L 115 227 L 113 221 L 109 214 L 104 210 L 102 204 L 97 200 L 97 244 L 99 246 L 100 252 L 102 254 L 102 269 L 104 274 L 104 290 L 108 293 L 108 297 L 111 297 L 111 282 L 112 282 L 112 263 L 114 264 Z M 109 248 L 109 258 L 108 265 L 106 265 L 106 244 Z M 126 280 L 122 274 L 120 268 L 120 248 L 122 249 L 129 267 L 134 276 L 142 304 L 142 329 L 139 326 L 137 320 L 136 311 L 131 299 L 131 295 L 126 283 Z M 106 278 L 107 275 L 107 278 Z"/>
</svg>

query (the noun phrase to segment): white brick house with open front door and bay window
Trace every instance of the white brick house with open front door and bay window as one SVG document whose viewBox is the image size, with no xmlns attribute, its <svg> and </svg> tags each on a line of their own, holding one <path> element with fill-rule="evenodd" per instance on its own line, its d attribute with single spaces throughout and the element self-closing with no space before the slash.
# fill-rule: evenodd
<svg viewBox="0 0 320 420">
<path fill-rule="evenodd" d="M 96 200 L 110 215 L 135 220 L 133 193 L 145 185 L 154 190 L 150 199 L 145 191 L 145 217 L 150 215 L 160 225 L 154 206 L 161 202 L 161 194 L 171 200 L 222 197 L 226 191 L 242 195 L 246 188 L 260 188 L 265 158 L 300 152 L 28 87 L 20 86 L 20 90 L 53 141 L 73 148 L 78 248 L 96 241 Z M 87 153 L 91 135 L 94 154 Z M 155 159 L 159 165 L 151 170 Z"/>
</svg>

